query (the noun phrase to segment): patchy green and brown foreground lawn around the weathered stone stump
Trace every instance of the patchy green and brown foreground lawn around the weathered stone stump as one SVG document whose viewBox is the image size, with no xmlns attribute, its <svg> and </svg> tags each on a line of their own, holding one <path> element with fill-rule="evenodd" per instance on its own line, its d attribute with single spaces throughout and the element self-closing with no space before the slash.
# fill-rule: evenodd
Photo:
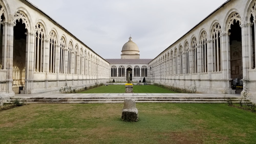
<svg viewBox="0 0 256 144">
<path fill-rule="evenodd" d="M 226 104 L 29 104 L 1 111 L 0 143 L 256 143 L 255 113 Z"/>
</svg>

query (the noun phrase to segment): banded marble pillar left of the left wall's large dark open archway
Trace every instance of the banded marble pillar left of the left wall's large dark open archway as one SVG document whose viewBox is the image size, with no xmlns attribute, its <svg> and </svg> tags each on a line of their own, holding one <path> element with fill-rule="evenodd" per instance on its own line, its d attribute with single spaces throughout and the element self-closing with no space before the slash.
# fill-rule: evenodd
<svg viewBox="0 0 256 144">
<path fill-rule="evenodd" d="M 3 69 L 7 70 L 6 91 L 13 93 L 13 27 L 14 23 L 2 22 L 3 24 Z"/>
</svg>

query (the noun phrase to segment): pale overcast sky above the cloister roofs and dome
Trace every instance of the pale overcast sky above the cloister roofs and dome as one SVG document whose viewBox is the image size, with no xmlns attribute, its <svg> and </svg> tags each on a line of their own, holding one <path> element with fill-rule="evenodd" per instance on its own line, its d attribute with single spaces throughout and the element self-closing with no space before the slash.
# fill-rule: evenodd
<svg viewBox="0 0 256 144">
<path fill-rule="evenodd" d="M 104 59 L 121 58 L 130 34 L 155 58 L 227 0 L 28 0 Z"/>
</svg>

